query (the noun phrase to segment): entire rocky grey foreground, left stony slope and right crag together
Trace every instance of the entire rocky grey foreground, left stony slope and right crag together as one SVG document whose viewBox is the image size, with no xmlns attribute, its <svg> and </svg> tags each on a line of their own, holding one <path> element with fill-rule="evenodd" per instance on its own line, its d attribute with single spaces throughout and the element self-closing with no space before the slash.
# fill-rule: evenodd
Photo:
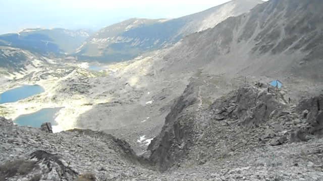
<svg viewBox="0 0 323 181">
<path fill-rule="evenodd" d="M 284 91 L 276 96 L 275 87 L 268 92 L 265 84 L 257 83 L 201 109 L 196 85 L 198 79 L 172 106 L 163 130 L 143 155 L 150 162 L 136 156 L 125 141 L 103 132 L 52 134 L 1 118 L 1 178 L 319 180 L 323 176 L 321 129 L 307 131 L 319 128 L 320 123 L 312 120 L 320 119 L 322 111 L 310 104 L 320 104 L 322 96 L 294 106 L 286 104 Z M 31 166 L 22 169 L 19 164 Z"/>
</svg>

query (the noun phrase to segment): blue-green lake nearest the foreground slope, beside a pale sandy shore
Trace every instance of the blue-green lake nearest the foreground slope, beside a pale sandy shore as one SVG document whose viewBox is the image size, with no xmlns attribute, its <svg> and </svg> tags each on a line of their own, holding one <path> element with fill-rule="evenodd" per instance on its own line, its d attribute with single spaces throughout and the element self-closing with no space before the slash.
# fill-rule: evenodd
<svg viewBox="0 0 323 181">
<path fill-rule="evenodd" d="M 55 118 L 62 108 L 45 108 L 35 113 L 21 115 L 15 119 L 14 123 L 19 126 L 31 126 L 40 128 L 42 123 L 49 122 L 51 125 L 57 125 Z"/>
</svg>

